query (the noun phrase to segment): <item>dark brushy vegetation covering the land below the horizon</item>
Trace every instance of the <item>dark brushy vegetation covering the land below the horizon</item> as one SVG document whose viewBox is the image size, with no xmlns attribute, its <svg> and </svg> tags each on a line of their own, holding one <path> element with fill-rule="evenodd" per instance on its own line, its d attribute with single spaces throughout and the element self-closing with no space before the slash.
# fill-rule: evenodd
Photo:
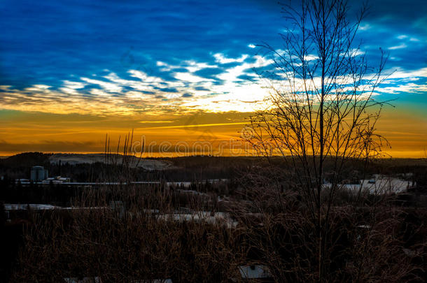
<svg viewBox="0 0 427 283">
<path fill-rule="evenodd" d="M 32 160 L 34 154 L 27 156 Z M 14 158 L 1 161 L 3 173 L 25 168 L 24 161 L 10 164 Z M 4 203 L 58 207 L 28 207 L 8 211 L 6 216 L 2 206 L 3 282 L 65 282 L 70 277 L 98 277 L 102 282 L 247 282 L 241 266 L 262 266 L 268 270 L 264 281 L 318 280 L 318 239 L 312 232 L 309 210 L 297 188 L 288 186 L 279 159 L 273 166 L 255 158 L 170 161 L 174 167 L 159 172 L 132 166 L 120 171 L 106 164 L 63 164 L 60 170 L 99 166 L 100 172 L 111 170 L 132 180 L 156 174 L 165 180 L 169 173 L 185 176 L 198 170 L 199 176 L 218 180 L 205 182 L 193 175 L 190 187 L 163 181 L 65 187 L 23 186 L 4 175 L 0 189 Z M 337 191 L 324 242 L 325 282 L 423 282 L 427 252 L 427 208 L 420 201 L 426 195 L 424 162 L 370 164 L 371 173 L 400 177 L 413 173 L 403 177 L 414 184 L 405 192 L 357 196 Z M 35 165 L 27 164 L 27 168 Z M 51 172 L 59 169 L 55 164 L 44 165 Z M 360 178 L 359 165 L 356 161 L 349 165 L 342 181 Z M 230 171 L 215 168 L 228 166 L 233 178 L 219 180 L 226 179 Z"/>
</svg>

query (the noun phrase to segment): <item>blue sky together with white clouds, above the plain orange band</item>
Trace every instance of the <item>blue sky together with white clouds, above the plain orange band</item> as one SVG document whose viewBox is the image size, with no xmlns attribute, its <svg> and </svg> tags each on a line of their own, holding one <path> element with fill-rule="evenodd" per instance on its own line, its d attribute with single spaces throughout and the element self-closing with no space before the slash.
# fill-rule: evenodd
<svg viewBox="0 0 427 283">
<path fill-rule="evenodd" d="M 0 118 L 250 113 L 253 68 L 269 65 L 253 45 L 281 48 L 285 24 L 273 0 L 3 0 Z M 359 36 L 373 64 L 389 52 L 381 95 L 427 119 L 424 1 L 371 1 Z"/>
</svg>

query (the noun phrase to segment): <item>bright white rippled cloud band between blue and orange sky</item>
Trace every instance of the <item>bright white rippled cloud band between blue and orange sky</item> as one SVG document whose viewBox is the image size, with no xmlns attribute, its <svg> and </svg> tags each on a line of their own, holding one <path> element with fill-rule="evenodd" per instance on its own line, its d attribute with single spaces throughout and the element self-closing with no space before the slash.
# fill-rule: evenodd
<svg viewBox="0 0 427 283">
<path fill-rule="evenodd" d="M 360 50 L 353 52 L 365 54 Z M 307 60 L 316 58 L 315 55 L 307 56 Z M 173 64 L 157 61 L 157 68 L 153 68 L 151 74 L 137 69 L 121 73 L 102 71 L 93 78 L 63 80 L 59 87 L 38 83 L 15 89 L 3 85 L 0 86 L 1 108 L 101 116 L 141 113 L 178 116 L 200 110 L 252 112 L 265 106 L 269 95 L 263 88 L 266 82 L 260 80 L 254 69 L 271 68 L 272 63 L 272 59 L 259 55 L 236 58 L 216 55 L 211 61 L 192 59 Z M 425 80 L 419 78 L 426 77 L 427 68 L 398 68 L 377 92 L 425 92 Z M 315 81 L 317 83 L 316 78 Z"/>
</svg>

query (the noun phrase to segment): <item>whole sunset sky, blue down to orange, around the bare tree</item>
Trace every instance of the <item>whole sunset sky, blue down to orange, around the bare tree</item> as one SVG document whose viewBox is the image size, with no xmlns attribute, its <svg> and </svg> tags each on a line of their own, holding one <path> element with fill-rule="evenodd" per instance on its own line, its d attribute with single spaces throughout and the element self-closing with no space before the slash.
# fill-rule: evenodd
<svg viewBox="0 0 427 283">
<path fill-rule="evenodd" d="M 370 6 L 360 50 L 388 54 L 376 98 L 393 100 L 377 131 L 392 157 L 427 157 L 427 5 Z M 285 24 L 269 0 L 0 1 L 0 155 L 103 152 L 132 129 L 147 156 L 245 154 L 258 45 L 281 48 Z"/>
</svg>

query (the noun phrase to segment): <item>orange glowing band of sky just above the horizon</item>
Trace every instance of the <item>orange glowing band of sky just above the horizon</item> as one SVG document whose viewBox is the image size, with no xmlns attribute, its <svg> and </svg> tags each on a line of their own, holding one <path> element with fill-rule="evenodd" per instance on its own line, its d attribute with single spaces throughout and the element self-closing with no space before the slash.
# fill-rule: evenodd
<svg viewBox="0 0 427 283">
<path fill-rule="evenodd" d="M 415 111 L 415 112 L 414 112 Z M 144 156 L 183 154 L 244 155 L 240 132 L 250 113 L 171 113 L 169 115 L 94 116 L 2 111 L 0 155 L 19 152 L 104 152 L 105 136 L 116 151 L 118 137 L 134 129 L 134 150 Z M 427 118 L 407 108 L 386 108 L 377 132 L 392 157 L 426 157 Z M 178 151 L 178 152 L 176 152 Z M 195 151 L 195 152 L 194 152 Z M 163 152 L 163 153 L 159 153 Z"/>
</svg>

